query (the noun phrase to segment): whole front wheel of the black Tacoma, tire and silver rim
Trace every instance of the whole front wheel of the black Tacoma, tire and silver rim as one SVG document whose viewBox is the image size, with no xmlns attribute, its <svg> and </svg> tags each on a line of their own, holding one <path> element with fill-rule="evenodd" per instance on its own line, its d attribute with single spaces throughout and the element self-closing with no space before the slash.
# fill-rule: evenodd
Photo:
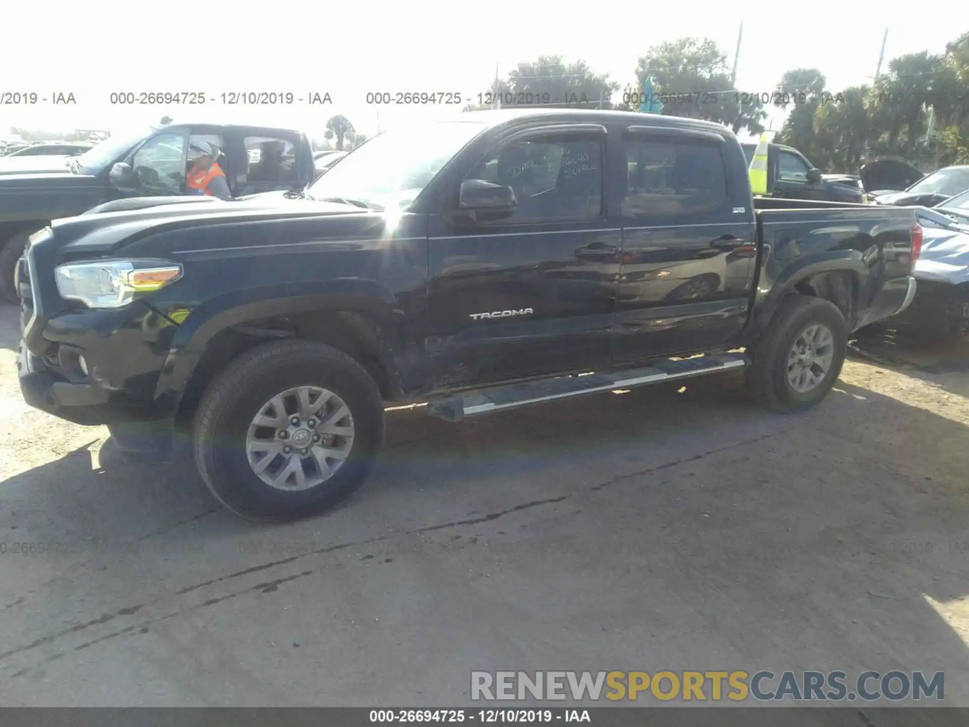
<svg viewBox="0 0 969 727">
<path fill-rule="evenodd" d="M 383 443 L 377 385 L 356 361 L 310 341 L 259 346 L 208 387 L 195 452 L 208 489 L 237 515 L 288 522 L 357 490 Z"/>
</svg>

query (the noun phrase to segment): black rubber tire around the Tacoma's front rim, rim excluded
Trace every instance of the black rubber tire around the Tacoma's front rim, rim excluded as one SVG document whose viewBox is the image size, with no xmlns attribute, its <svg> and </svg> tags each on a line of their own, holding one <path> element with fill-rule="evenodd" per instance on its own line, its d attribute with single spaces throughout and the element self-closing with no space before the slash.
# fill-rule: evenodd
<svg viewBox="0 0 969 727">
<path fill-rule="evenodd" d="M 287 491 L 255 473 L 245 443 L 270 399 L 296 387 L 325 389 L 342 399 L 353 440 L 329 479 Z M 271 342 L 240 356 L 209 384 L 193 439 L 199 473 L 223 505 L 252 521 L 292 522 L 324 513 L 362 485 L 383 445 L 384 404 L 374 380 L 343 352 L 312 341 Z"/>
</svg>

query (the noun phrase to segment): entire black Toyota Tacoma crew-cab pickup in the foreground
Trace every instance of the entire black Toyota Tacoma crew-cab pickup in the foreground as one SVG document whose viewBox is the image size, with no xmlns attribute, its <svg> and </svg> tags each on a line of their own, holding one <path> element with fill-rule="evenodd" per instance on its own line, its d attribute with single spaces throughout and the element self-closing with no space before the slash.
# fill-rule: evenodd
<svg viewBox="0 0 969 727">
<path fill-rule="evenodd" d="M 20 386 L 122 449 L 191 432 L 215 496 L 270 521 L 359 486 L 385 402 L 454 421 L 746 369 L 767 407 L 799 410 L 849 332 L 912 300 L 922 228 L 911 208 L 762 204 L 734 134 L 693 119 L 391 130 L 297 193 L 31 237 Z"/>
</svg>

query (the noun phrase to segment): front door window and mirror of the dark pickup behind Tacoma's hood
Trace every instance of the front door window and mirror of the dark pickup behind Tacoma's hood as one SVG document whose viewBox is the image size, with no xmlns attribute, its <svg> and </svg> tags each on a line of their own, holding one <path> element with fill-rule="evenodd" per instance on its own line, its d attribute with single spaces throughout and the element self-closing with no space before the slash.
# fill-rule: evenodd
<svg viewBox="0 0 969 727">
<path fill-rule="evenodd" d="M 111 184 L 111 197 L 168 197 L 185 194 L 188 139 L 184 132 L 157 134 L 131 156 L 132 173 Z"/>
</svg>

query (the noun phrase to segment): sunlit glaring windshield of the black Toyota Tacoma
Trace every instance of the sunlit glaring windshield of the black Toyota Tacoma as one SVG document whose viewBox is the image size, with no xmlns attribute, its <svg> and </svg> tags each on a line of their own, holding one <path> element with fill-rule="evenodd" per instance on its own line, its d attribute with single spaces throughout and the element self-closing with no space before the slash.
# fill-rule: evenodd
<svg viewBox="0 0 969 727">
<path fill-rule="evenodd" d="M 338 197 L 378 209 L 403 208 L 484 128 L 480 121 L 441 121 L 386 131 L 343 157 L 306 192 L 316 200 Z"/>
</svg>

